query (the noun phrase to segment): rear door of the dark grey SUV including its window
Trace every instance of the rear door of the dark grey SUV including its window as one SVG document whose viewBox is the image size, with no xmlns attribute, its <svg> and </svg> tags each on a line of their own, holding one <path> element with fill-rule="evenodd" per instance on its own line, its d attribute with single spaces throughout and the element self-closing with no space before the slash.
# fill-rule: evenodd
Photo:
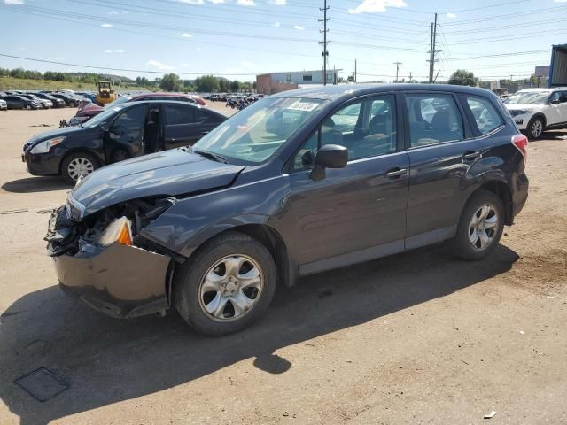
<svg viewBox="0 0 567 425">
<path fill-rule="evenodd" d="M 481 174 L 482 144 L 457 97 L 406 92 L 410 174 L 406 249 L 454 235 L 462 206 Z"/>
</svg>

